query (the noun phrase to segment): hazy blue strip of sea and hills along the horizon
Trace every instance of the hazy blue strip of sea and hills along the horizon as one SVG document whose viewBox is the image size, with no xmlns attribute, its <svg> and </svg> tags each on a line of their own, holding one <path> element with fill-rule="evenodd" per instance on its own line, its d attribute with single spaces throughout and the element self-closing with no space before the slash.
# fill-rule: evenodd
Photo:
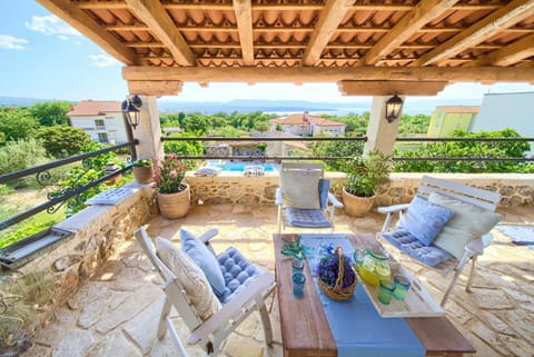
<svg viewBox="0 0 534 357">
<path fill-rule="evenodd" d="M 0 107 L 28 107 L 38 102 L 55 101 L 62 99 L 36 99 L 36 98 L 14 98 L 0 97 Z M 437 106 L 479 106 L 481 100 L 476 99 L 416 99 L 407 98 L 403 112 L 407 115 L 431 115 Z M 76 103 L 75 101 L 71 101 Z M 327 113 L 332 116 L 345 116 L 348 113 L 363 113 L 370 110 L 370 99 L 368 102 L 337 103 L 337 102 L 315 102 L 303 100 L 263 100 L 263 99 L 236 99 L 228 102 L 220 101 L 190 101 L 181 102 L 164 98 L 158 100 L 160 112 L 191 112 L 204 113 L 225 112 L 250 112 L 264 111 L 274 113 L 291 113 L 308 110 L 314 115 Z"/>
</svg>

